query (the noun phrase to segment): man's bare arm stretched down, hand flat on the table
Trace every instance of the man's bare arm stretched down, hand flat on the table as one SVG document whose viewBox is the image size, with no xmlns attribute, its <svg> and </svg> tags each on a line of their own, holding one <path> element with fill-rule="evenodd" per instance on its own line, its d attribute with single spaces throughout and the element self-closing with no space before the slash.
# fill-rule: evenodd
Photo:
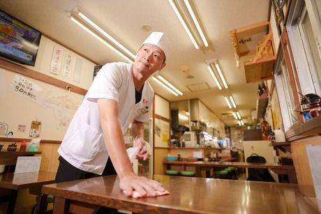
<svg viewBox="0 0 321 214">
<path fill-rule="evenodd" d="M 157 181 L 135 175 L 126 153 L 123 133 L 117 119 L 118 103 L 110 99 L 98 99 L 97 102 L 105 146 L 119 176 L 121 190 L 125 190 L 128 196 L 133 196 L 133 190 L 135 190 L 143 197 L 155 197 L 156 190 L 163 192 L 163 186 Z"/>
</svg>

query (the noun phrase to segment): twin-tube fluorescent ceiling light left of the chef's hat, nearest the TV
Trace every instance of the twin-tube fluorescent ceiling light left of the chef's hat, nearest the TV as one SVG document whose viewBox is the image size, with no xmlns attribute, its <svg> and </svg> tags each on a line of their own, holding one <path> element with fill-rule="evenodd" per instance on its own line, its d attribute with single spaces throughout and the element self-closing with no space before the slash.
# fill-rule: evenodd
<svg viewBox="0 0 321 214">
<path fill-rule="evenodd" d="M 85 16 L 83 13 L 81 13 L 79 10 L 77 10 L 77 8 L 75 8 L 75 11 L 77 12 L 77 15 L 79 15 L 79 17 L 77 17 L 76 15 L 68 12 L 68 17 L 70 18 L 70 20 L 72 20 L 73 22 L 75 22 L 78 26 L 82 27 L 82 29 L 84 29 L 85 31 L 87 31 L 88 33 L 91 34 L 91 36 L 94 36 L 97 40 L 99 40 L 101 43 L 103 43 L 104 45 L 106 45 L 107 47 L 109 47 L 110 49 L 112 49 L 114 52 L 116 52 L 117 54 L 119 54 L 121 57 L 123 57 L 124 59 L 126 59 L 126 61 L 133 63 L 133 59 L 135 59 L 135 54 L 133 54 L 132 52 L 130 52 L 128 49 L 126 49 L 126 47 L 124 47 L 123 45 L 121 45 L 121 43 L 119 43 L 117 40 L 115 40 L 114 38 L 112 38 L 112 36 L 110 36 L 108 33 L 106 33 L 105 31 L 103 31 L 103 29 L 101 29 L 97 24 L 95 24 L 94 22 L 92 22 L 87 16 Z M 117 45 L 117 47 L 119 47 L 121 51 L 119 51 L 119 49 L 116 49 L 115 47 L 113 47 L 112 45 L 110 45 L 110 43 L 108 43 L 105 39 L 101 38 L 100 36 L 98 36 L 98 33 L 94 32 L 93 30 L 89 29 L 88 26 L 85 26 L 84 23 L 80 22 L 80 18 L 82 21 L 86 22 L 87 24 L 89 24 L 90 26 L 94 27 L 94 29 L 96 29 L 99 33 L 101 33 L 103 36 L 105 36 L 105 38 L 107 38 L 108 40 L 110 40 L 112 43 L 114 43 L 114 45 Z M 126 56 L 126 54 L 128 54 L 128 57 Z"/>
</svg>

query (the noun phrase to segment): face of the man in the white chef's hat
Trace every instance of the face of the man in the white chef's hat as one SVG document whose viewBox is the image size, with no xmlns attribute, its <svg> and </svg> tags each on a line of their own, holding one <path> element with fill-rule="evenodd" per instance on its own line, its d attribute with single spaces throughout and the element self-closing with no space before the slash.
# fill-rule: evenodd
<svg viewBox="0 0 321 214">
<path fill-rule="evenodd" d="M 134 67 L 143 74 L 152 75 L 157 70 L 162 70 L 165 66 L 165 54 L 156 45 L 144 44 L 138 50 Z"/>
</svg>

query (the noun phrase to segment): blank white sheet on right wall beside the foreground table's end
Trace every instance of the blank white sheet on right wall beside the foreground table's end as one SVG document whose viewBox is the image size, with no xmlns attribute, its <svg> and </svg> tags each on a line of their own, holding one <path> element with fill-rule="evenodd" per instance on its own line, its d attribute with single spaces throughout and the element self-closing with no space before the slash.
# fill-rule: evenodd
<svg viewBox="0 0 321 214">
<path fill-rule="evenodd" d="M 321 200 L 321 145 L 307 145 L 306 153 L 308 155 L 315 194 Z"/>
</svg>

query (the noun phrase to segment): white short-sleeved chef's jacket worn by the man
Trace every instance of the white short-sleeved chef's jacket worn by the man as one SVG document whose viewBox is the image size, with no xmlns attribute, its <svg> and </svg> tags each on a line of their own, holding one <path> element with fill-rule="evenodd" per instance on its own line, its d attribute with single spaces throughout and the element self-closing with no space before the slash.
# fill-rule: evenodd
<svg viewBox="0 0 321 214">
<path fill-rule="evenodd" d="M 100 126 L 98 98 L 118 102 L 118 120 L 123 134 L 133 119 L 143 123 L 149 120 L 154 90 L 145 82 L 142 99 L 135 104 L 132 66 L 130 63 L 107 63 L 96 75 L 58 149 L 61 157 L 74 167 L 102 174 L 107 163 L 109 155 Z"/>
</svg>

